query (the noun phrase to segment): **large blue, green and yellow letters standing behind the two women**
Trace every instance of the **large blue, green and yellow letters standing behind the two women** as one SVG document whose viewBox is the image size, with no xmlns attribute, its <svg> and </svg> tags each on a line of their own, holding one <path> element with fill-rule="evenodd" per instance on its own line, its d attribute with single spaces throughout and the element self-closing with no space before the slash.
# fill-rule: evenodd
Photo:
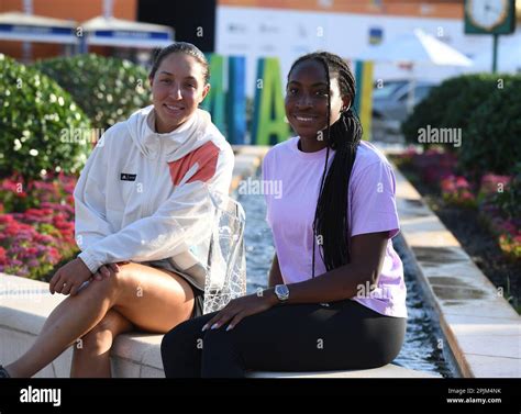
<svg viewBox="0 0 521 414">
<path fill-rule="evenodd" d="M 212 121 L 230 144 L 244 144 L 246 136 L 246 59 L 244 56 L 212 54 L 210 63 L 211 89 L 201 108 L 212 114 Z M 369 139 L 373 101 L 373 63 L 356 61 L 356 100 L 364 139 Z M 228 78 L 228 90 L 224 90 Z M 274 145 L 286 141 L 291 130 L 286 121 L 284 85 L 277 58 L 257 61 L 255 99 L 251 120 L 251 144 Z"/>
</svg>

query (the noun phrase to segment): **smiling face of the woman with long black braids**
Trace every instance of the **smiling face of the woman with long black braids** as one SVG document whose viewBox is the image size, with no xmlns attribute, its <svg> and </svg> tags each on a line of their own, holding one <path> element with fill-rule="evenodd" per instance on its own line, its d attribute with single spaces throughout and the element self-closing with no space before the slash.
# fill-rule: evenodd
<svg viewBox="0 0 521 414">
<path fill-rule="evenodd" d="M 317 59 L 303 60 L 293 67 L 286 89 L 286 116 L 295 132 L 306 141 L 317 141 L 319 131 L 328 124 L 328 94 L 331 97 L 330 125 L 340 118 L 341 109 L 350 100 L 342 97 L 336 76 L 328 78 L 323 65 Z M 323 143 L 325 146 L 325 143 Z"/>
</svg>

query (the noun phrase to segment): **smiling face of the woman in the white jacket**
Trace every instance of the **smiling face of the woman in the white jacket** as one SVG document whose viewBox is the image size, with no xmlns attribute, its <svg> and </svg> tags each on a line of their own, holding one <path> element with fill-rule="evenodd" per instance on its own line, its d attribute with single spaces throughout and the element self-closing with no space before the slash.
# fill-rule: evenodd
<svg viewBox="0 0 521 414">
<path fill-rule="evenodd" d="M 162 134 L 176 130 L 188 120 L 210 90 L 210 85 L 204 82 L 202 65 L 185 53 L 165 56 L 149 81 L 156 130 Z"/>
</svg>

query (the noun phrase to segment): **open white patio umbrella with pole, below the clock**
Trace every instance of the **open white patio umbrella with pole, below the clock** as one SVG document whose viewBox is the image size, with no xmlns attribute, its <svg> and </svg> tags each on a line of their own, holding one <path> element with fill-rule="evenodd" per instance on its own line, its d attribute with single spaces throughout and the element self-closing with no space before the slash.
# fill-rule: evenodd
<svg viewBox="0 0 521 414">
<path fill-rule="evenodd" d="M 473 60 L 461 52 L 423 32 L 421 29 L 415 29 L 411 33 L 385 41 L 379 45 L 369 46 L 357 58 L 374 61 L 410 63 L 411 66 L 426 64 L 469 67 L 473 65 Z M 414 76 L 412 69 L 408 98 L 408 110 L 411 111 L 414 101 Z"/>
</svg>

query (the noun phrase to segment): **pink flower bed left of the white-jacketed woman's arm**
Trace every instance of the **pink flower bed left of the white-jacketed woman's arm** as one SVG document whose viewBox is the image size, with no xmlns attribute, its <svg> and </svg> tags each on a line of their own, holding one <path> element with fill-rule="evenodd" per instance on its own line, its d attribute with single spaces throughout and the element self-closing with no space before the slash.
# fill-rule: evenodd
<svg viewBox="0 0 521 414">
<path fill-rule="evenodd" d="M 77 251 L 75 184 L 76 178 L 63 175 L 0 181 L 0 271 L 38 279 Z"/>
</svg>

